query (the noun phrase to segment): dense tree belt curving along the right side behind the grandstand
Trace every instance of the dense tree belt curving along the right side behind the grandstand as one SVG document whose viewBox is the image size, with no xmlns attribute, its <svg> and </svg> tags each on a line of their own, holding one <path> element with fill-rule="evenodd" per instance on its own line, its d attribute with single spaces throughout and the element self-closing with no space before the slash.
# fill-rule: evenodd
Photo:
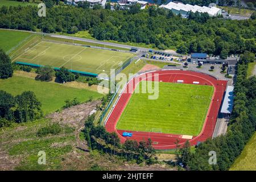
<svg viewBox="0 0 256 182">
<path fill-rule="evenodd" d="M 254 55 L 246 52 L 237 65 L 234 107 L 227 133 L 200 143 L 195 152 L 189 150 L 188 144 L 179 151 L 178 160 L 183 162 L 188 170 L 228 170 L 254 134 L 256 77 L 246 78 L 248 63 L 254 61 L 252 56 Z M 210 151 L 216 152 L 217 164 L 209 164 Z"/>
</svg>

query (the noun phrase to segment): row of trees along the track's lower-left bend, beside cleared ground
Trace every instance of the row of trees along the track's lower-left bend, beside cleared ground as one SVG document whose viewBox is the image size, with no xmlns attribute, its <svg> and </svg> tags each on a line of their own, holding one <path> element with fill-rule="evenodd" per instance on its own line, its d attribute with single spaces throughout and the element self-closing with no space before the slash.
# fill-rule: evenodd
<svg viewBox="0 0 256 182">
<path fill-rule="evenodd" d="M 116 133 L 108 133 L 105 127 L 95 126 L 93 121 L 94 115 L 90 115 L 85 121 L 83 130 L 90 149 L 118 155 L 126 160 L 135 160 L 138 164 L 143 162 L 152 164 L 156 161 L 155 150 L 150 139 L 141 142 L 126 140 L 125 143 L 121 144 Z"/>
</svg>

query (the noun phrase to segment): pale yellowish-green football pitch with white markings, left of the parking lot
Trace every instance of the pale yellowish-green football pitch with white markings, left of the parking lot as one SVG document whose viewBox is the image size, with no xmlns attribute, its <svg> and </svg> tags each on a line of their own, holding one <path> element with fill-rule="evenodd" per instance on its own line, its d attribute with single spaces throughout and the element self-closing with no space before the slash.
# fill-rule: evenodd
<svg viewBox="0 0 256 182">
<path fill-rule="evenodd" d="M 110 68 L 121 67 L 123 62 L 133 56 L 132 53 L 126 52 L 42 41 L 24 49 L 14 61 L 109 74 Z"/>
</svg>

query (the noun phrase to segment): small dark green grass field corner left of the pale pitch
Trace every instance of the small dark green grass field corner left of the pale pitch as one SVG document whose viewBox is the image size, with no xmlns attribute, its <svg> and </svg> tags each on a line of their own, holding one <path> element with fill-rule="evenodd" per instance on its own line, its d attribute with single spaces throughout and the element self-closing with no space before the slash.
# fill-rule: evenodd
<svg viewBox="0 0 256 182">
<path fill-rule="evenodd" d="M 0 30 L 0 48 L 6 52 L 10 51 L 12 48 L 15 48 L 15 46 L 26 40 L 30 35 L 31 33 L 28 32 Z"/>
</svg>

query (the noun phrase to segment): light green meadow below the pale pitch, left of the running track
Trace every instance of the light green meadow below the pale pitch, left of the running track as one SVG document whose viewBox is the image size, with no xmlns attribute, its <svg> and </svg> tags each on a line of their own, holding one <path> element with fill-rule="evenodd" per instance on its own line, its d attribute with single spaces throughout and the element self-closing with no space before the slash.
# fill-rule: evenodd
<svg viewBox="0 0 256 182">
<path fill-rule="evenodd" d="M 61 109 L 65 100 L 72 100 L 77 97 L 81 102 L 88 101 L 90 97 L 97 99 L 101 94 L 85 89 L 69 88 L 60 84 L 35 81 L 31 78 L 13 76 L 6 80 L 0 80 L 0 90 L 5 90 L 16 96 L 24 91 L 32 91 L 42 103 L 45 114 Z"/>
</svg>

